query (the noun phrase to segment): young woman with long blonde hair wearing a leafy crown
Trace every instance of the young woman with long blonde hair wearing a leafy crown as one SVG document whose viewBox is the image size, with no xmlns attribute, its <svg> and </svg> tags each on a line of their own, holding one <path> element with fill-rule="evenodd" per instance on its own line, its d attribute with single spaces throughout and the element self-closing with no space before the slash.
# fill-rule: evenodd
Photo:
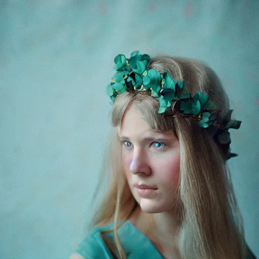
<svg viewBox="0 0 259 259">
<path fill-rule="evenodd" d="M 186 58 L 114 61 L 107 191 L 70 258 L 255 258 L 226 164 L 241 121 L 217 75 Z"/>
</svg>

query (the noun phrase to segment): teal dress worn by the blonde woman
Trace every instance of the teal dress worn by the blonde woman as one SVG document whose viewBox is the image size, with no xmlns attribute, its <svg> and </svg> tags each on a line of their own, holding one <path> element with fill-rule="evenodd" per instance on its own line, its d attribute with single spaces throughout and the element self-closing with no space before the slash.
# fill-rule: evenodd
<svg viewBox="0 0 259 259">
<path fill-rule="evenodd" d="M 76 252 L 85 259 L 114 258 L 100 235 L 101 231 L 112 228 L 112 224 L 104 228 L 95 228 L 93 232 L 81 242 Z M 154 244 L 129 221 L 126 221 L 118 229 L 117 233 L 127 259 L 163 259 L 163 256 L 156 249 Z M 104 233 L 104 236 L 108 239 L 112 239 L 113 232 Z M 248 247 L 247 259 L 256 259 Z"/>
</svg>

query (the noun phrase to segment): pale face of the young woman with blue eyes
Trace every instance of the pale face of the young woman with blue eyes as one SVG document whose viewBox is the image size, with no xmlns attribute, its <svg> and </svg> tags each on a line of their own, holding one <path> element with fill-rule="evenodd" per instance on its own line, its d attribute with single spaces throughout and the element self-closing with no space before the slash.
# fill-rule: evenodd
<svg viewBox="0 0 259 259">
<path fill-rule="evenodd" d="M 176 204 L 180 175 L 180 145 L 172 131 L 151 130 L 131 105 L 118 128 L 123 171 L 141 209 L 147 213 L 170 211 Z"/>
</svg>

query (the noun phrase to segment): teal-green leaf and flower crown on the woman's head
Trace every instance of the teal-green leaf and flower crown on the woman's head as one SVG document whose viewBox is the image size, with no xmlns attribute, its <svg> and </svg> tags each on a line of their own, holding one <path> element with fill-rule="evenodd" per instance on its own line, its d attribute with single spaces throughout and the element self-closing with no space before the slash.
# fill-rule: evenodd
<svg viewBox="0 0 259 259">
<path fill-rule="evenodd" d="M 229 110 L 222 117 L 222 111 L 205 93 L 198 91 L 191 96 L 183 79 L 177 80 L 168 72 L 160 73 L 154 68 L 147 69 L 150 60 L 149 55 L 141 55 L 139 51 L 133 52 L 130 59 L 121 54 L 115 57 L 114 69 L 117 72 L 108 85 L 111 100 L 114 101 L 116 96 L 124 92 L 149 91 L 151 96 L 159 101 L 158 113 L 197 118 L 198 125 L 206 128 L 224 151 L 225 160 L 237 156 L 230 152 L 231 140 L 228 130 L 238 129 L 241 121 L 231 119 L 233 110 Z"/>
</svg>

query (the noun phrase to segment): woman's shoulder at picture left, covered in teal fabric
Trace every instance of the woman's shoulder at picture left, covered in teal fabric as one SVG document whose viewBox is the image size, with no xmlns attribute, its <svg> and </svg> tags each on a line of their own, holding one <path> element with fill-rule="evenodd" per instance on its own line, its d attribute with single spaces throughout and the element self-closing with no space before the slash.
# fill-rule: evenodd
<svg viewBox="0 0 259 259">
<path fill-rule="evenodd" d="M 92 232 L 81 241 L 76 249 L 76 253 L 72 254 L 70 259 L 113 258 L 102 236 L 102 231 L 111 228 L 112 225 L 95 227 Z"/>
</svg>

